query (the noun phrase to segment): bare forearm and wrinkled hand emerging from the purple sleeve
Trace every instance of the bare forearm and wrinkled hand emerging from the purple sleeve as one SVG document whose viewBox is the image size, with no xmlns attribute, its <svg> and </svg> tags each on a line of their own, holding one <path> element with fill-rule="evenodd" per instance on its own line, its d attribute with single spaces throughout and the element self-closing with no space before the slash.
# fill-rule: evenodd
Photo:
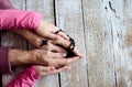
<svg viewBox="0 0 132 87">
<path fill-rule="evenodd" d="M 23 64 L 38 64 L 44 66 L 54 66 L 55 68 L 69 65 L 79 59 L 78 56 L 67 57 L 63 53 L 54 53 L 46 50 L 21 51 L 11 50 L 9 58 L 12 66 Z"/>
</svg>

